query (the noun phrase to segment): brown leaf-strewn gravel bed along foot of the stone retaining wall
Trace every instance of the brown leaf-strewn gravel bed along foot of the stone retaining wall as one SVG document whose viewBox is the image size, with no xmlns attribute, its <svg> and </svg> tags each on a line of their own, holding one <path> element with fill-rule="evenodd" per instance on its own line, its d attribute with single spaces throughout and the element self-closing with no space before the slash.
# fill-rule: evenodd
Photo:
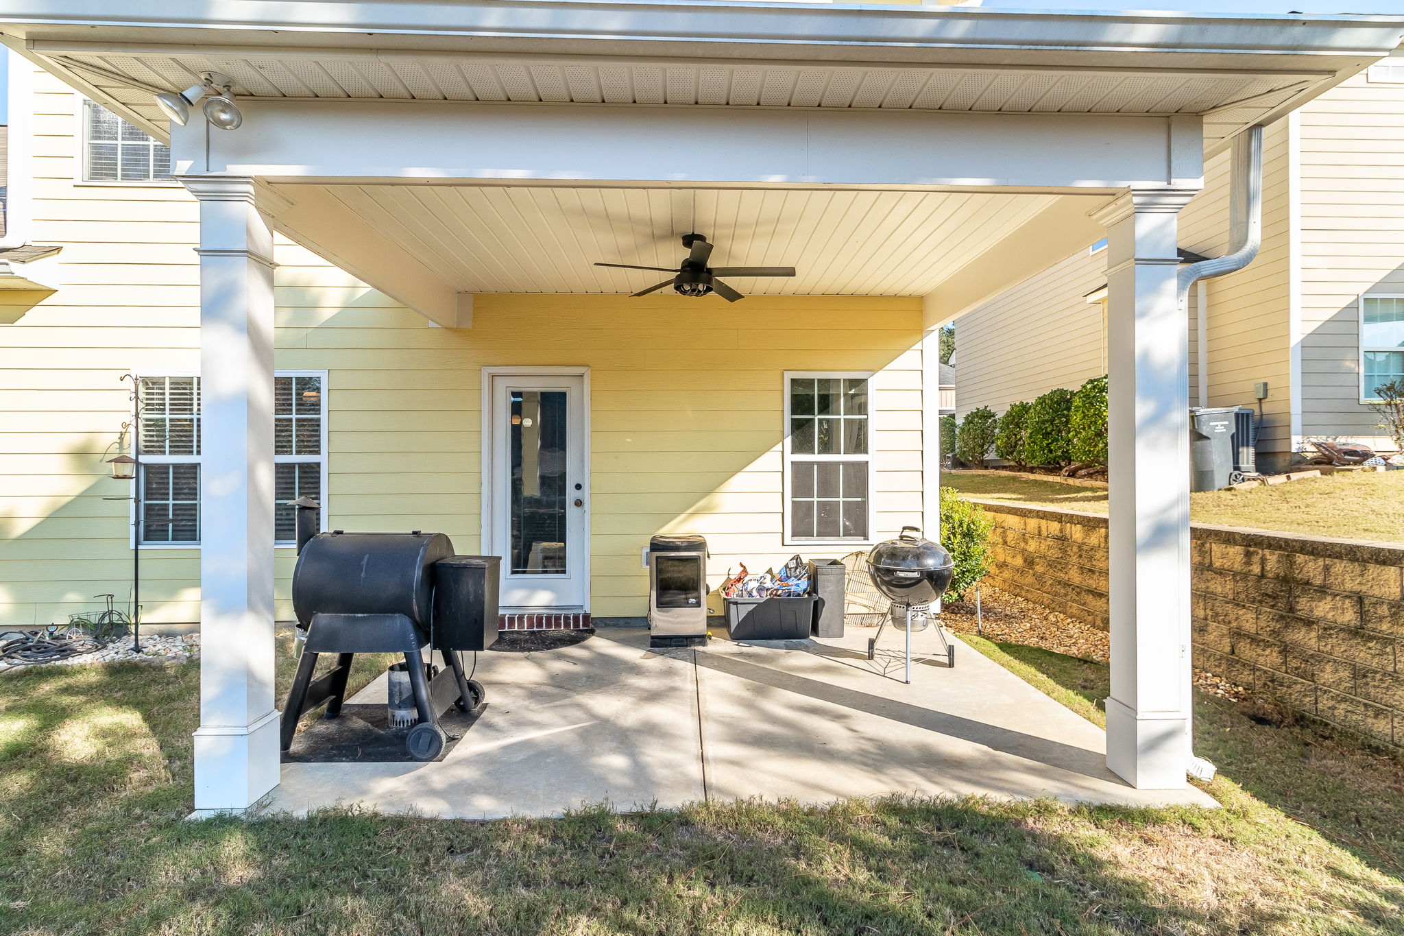
<svg viewBox="0 0 1404 936">
<path fill-rule="evenodd" d="M 993 585 L 981 585 L 980 608 L 984 612 L 983 636 L 988 640 L 1039 647 L 1094 662 L 1109 660 L 1111 639 L 1105 630 L 1049 610 L 1043 605 Z M 943 605 L 941 620 L 956 633 L 976 633 L 974 594 L 970 594 L 969 601 Z M 1248 695 L 1243 686 L 1202 669 L 1195 669 L 1195 685 L 1203 692 L 1234 702 L 1243 702 Z"/>
</svg>

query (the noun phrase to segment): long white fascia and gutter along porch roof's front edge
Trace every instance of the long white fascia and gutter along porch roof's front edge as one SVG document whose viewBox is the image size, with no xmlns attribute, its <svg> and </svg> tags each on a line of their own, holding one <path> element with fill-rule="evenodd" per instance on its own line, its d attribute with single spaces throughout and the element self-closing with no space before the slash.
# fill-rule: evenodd
<svg viewBox="0 0 1404 936">
<path fill-rule="evenodd" d="M 223 0 L 218 15 L 202 13 L 209 7 L 188 0 L 140 4 L 0 0 L 0 24 L 13 24 L 7 31 L 25 39 L 58 42 L 152 42 L 154 28 L 161 42 L 184 39 L 199 46 L 211 39 L 243 44 L 257 38 L 260 46 L 310 42 L 449 51 L 472 39 L 479 49 L 486 41 L 498 48 L 535 45 L 548 52 L 580 52 L 580 44 L 588 42 L 594 53 L 671 46 L 668 53 L 698 55 L 702 48 L 726 44 L 731 58 L 776 55 L 788 48 L 790 52 L 782 58 L 995 66 L 1081 59 L 1090 66 L 1137 70 L 1165 65 L 1158 53 L 1172 56 L 1178 67 L 1213 67 L 1210 63 L 1231 67 L 1233 60 L 1240 69 L 1257 70 L 1300 67 L 1310 58 L 1369 59 L 1359 65 L 1363 69 L 1404 41 L 1404 18 L 1382 15 L 1090 13 L 733 0 L 452 4 L 343 0 L 310 6 L 316 7 L 314 20 L 307 13 L 309 4 L 267 0 Z M 94 27 L 102 32 L 94 34 Z M 1148 65 L 1147 56 L 1155 65 Z"/>
</svg>

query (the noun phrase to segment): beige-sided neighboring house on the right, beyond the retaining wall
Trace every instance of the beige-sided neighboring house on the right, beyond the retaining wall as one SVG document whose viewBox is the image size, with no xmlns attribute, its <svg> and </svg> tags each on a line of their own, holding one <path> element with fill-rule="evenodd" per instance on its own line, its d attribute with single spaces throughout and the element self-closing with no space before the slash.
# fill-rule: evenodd
<svg viewBox="0 0 1404 936">
<path fill-rule="evenodd" d="M 1264 140 L 1262 250 L 1192 290 L 1195 406 L 1258 408 L 1259 459 L 1280 467 L 1311 438 L 1394 443 L 1367 406 L 1404 376 L 1404 52 L 1272 123 Z M 1227 157 L 1179 215 L 1184 250 L 1228 241 Z M 1106 373 L 1105 241 L 959 316 L 956 411 L 1002 411 Z M 1205 307 L 1199 307 L 1205 297 Z"/>
</svg>

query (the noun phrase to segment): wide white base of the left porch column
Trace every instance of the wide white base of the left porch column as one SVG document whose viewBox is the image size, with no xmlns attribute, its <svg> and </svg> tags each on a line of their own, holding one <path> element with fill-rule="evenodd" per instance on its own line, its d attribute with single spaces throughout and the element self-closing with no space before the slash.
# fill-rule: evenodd
<svg viewBox="0 0 1404 936">
<path fill-rule="evenodd" d="M 191 818 L 244 815 L 278 786 L 281 770 L 277 710 L 249 726 L 201 726 Z"/>
</svg>

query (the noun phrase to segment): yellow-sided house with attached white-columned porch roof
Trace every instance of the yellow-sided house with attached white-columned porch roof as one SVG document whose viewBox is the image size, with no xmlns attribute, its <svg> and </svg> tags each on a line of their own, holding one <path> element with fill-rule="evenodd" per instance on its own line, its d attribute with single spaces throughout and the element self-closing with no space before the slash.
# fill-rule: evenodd
<svg viewBox="0 0 1404 936">
<path fill-rule="evenodd" d="M 1108 519 L 1106 765 L 1185 786 L 1177 213 L 1206 156 L 1404 21 L 305 6 L 153 0 L 133 25 L 0 0 L 18 53 L 0 248 L 62 247 L 25 261 L 56 278 L 0 324 L 0 620 L 125 596 L 135 528 L 145 619 L 201 626 L 197 811 L 279 783 L 282 501 L 498 556 L 504 610 L 542 626 L 642 616 L 660 532 L 705 535 L 713 585 L 935 535 L 941 326 L 1101 236 L 1133 404 L 1109 418 L 1132 495 Z M 688 233 L 715 254 L 678 271 Z M 751 264 L 796 275 L 737 275 L 748 297 L 726 302 Z M 104 470 L 133 445 L 135 518 Z"/>
</svg>

